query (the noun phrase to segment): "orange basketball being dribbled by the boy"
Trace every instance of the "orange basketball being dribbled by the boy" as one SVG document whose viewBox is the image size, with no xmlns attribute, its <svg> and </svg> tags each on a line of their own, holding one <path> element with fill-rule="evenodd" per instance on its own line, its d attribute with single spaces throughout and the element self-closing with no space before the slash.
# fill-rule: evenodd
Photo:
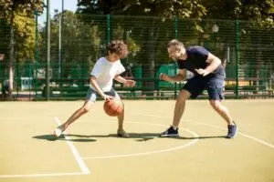
<svg viewBox="0 0 274 182">
<path fill-rule="evenodd" d="M 104 110 L 109 116 L 118 116 L 123 111 L 123 104 L 121 103 L 121 100 L 113 98 L 105 101 Z"/>
</svg>

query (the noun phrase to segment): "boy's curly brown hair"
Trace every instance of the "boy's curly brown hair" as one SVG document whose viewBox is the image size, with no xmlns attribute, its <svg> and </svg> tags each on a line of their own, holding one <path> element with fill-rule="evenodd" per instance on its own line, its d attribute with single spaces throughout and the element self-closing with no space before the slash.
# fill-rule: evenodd
<svg viewBox="0 0 274 182">
<path fill-rule="evenodd" d="M 129 54 L 128 45 L 126 45 L 122 40 L 113 40 L 107 46 L 107 52 L 110 54 L 115 53 L 121 58 L 124 58 Z"/>
</svg>

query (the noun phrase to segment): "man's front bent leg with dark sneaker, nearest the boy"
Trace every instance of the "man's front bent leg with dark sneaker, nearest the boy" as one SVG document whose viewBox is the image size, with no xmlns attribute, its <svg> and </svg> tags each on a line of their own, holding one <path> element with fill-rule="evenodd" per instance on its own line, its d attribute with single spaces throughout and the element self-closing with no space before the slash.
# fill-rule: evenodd
<svg viewBox="0 0 274 182">
<path fill-rule="evenodd" d="M 160 136 L 179 136 L 178 126 L 180 124 L 181 117 L 184 114 L 184 107 L 186 99 L 188 99 L 191 94 L 187 90 L 182 90 L 177 99 L 174 107 L 174 121 L 173 125 L 165 130 Z"/>
</svg>

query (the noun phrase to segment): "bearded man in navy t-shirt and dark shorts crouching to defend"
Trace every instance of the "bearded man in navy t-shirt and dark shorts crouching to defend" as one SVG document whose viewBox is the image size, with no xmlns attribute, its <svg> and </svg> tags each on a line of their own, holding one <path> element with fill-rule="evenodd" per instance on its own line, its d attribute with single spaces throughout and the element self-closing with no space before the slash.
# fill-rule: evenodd
<svg viewBox="0 0 274 182">
<path fill-rule="evenodd" d="M 169 82 L 182 81 L 186 78 L 186 70 L 193 72 L 195 76 L 187 81 L 176 99 L 173 125 L 160 136 L 179 136 L 178 126 L 184 114 L 186 99 L 195 98 L 206 89 L 210 105 L 227 121 L 227 138 L 235 137 L 237 125 L 230 116 L 227 107 L 221 103 L 224 98 L 223 83 L 225 79 L 225 70 L 221 65 L 221 60 L 202 46 L 191 46 L 185 49 L 184 44 L 175 39 L 169 42 L 167 51 L 169 57 L 177 61 L 179 73 L 176 76 L 167 76 L 162 73 L 160 79 Z"/>
</svg>

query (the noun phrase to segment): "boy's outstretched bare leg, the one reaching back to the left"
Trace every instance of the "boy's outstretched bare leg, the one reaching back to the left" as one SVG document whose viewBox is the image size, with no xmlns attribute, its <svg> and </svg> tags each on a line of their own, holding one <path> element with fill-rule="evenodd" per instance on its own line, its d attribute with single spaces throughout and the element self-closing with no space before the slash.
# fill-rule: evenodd
<svg viewBox="0 0 274 182">
<path fill-rule="evenodd" d="M 81 106 L 78 110 L 76 110 L 69 118 L 68 120 L 58 126 L 58 128 L 55 129 L 54 133 L 58 137 L 60 136 L 67 128 L 69 125 L 71 125 L 74 121 L 76 121 L 80 116 L 86 114 L 89 112 L 90 107 L 94 104 L 93 101 L 87 100 L 83 106 Z"/>
</svg>

